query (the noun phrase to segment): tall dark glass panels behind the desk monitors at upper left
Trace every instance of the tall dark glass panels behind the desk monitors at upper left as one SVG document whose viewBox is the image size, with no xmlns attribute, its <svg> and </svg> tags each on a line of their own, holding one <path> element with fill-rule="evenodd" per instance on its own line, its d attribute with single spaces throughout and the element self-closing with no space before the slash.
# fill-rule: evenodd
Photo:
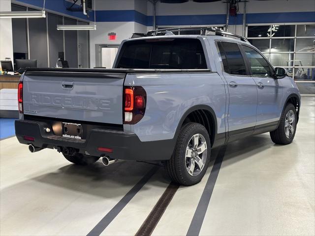
<svg viewBox="0 0 315 236">
<path fill-rule="evenodd" d="M 12 11 L 33 11 L 11 4 Z M 13 63 L 16 59 L 37 59 L 37 67 L 55 67 L 59 52 L 69 67 L 90 67 L 90 36 L 85 30 L 57 30 L 57 25 L 89 25 L 84 21 L 46 13 L 46 18 L 13 18 Z M 19 68 L 15 68 L 19 69 Z"/>
</svg>

